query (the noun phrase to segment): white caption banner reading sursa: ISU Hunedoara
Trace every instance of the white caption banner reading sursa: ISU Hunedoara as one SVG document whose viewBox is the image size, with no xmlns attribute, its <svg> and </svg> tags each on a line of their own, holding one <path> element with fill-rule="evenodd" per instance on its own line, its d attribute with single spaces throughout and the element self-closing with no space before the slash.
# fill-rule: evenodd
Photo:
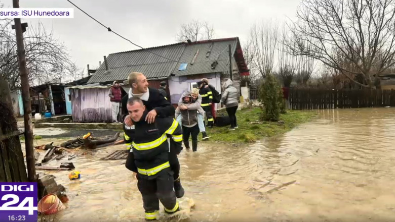
<svg viewBox="0 0 395 222">
<path fill-rule="evenodd" d="M 0 19 L 72 19 L 72 8 L 0 8 Z"/>
</svg>

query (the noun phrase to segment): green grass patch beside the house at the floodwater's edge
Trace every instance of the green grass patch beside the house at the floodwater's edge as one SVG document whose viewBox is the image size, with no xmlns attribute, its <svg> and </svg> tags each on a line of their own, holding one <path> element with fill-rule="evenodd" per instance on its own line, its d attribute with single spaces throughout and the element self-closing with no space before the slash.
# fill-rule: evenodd
<svg viewBox="0 0 395 222">
<path fill-rule="evenodd" d="M 280 122 L 284 122 L 280 123 L 260 121 L 260 113 L 258 107 L 238 110 L 236 117 L 239 128 L 236 130 L 228 130 L 229 126 L 207 128 L 210 141 L 251 143 L 264 137 L 284 134 L 298 124 L 308 122 L 317 116 L 317 113 L 310 110 L 287 110 L 286 114 L 280 114 Z"/>
</svg>

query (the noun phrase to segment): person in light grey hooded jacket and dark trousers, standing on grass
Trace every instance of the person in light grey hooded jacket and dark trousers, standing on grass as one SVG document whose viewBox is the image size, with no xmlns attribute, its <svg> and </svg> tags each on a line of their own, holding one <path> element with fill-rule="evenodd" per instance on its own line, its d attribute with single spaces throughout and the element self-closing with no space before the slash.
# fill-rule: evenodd
<svg viewBox="0 0 395 222">
<path fill-rule="evenodd" d="M 230 79 L 226 80 L 223 84 L 223 88 L 225 91 L 223 92 L 221 102 L 226 105 L 226 112 L 230 119 L 229 130 L 235 130 L 235 128 L 238 128 L 236 110 L 238 110 L 239 107 L 239 92 L 233 86 L 233 82 Z"/>
</svg>

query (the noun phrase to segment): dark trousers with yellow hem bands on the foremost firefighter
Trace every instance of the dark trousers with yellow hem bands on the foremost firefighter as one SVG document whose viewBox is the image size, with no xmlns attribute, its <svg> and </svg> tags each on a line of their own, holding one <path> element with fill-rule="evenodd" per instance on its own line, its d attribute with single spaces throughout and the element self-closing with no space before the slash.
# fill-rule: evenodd
<svg viewBox="0 0 395 222">
<path fill-rule="evenodd" d="M 173 191 L 173 172 L 170 169 L 157 173 L 155 179 L 145 179 L 137 174 L 137 187 L 143 197 L 143 207 L 146 219 L 156 219 L 159 212 L 159 201 L 163 204 L 166 213 L 179 210 L 178 201 Z"/>
</svg>

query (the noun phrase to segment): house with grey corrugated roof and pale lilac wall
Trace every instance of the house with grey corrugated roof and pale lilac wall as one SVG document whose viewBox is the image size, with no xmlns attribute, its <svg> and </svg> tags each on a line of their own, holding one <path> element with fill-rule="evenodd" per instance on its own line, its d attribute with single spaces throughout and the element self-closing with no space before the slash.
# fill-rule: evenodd
<svg viewBox="0 0 395 222">
<path fill-rule="evenodd" d="M 111 53 L 88 84 L 109 84 L 115 80 L 121 83 L 131 72 L 143 73 L 153 88 L 159 88 L 160 82 L 166 81 L 172 104 L 177 104 L 182 93 L 202 78 L 207 78 L 221 92 L 221 83 L 230 78 L 230 72 L 239 90 L 240 77 L 250 75 L 239 38 L 233 37 Z M 129 91 L 127 84 L 122 87 Z"/>
</svg>

